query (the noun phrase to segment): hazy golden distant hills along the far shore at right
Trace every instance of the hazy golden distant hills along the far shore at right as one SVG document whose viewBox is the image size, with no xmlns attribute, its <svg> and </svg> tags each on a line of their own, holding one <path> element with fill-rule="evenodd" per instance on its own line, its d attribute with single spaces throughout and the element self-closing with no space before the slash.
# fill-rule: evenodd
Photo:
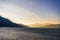
<svg viewBox="0 0 60 40">
<path fill-rule="evenodd" d="M 60 24 L 40 24 L 40 23 L 35 23 L 35 24 L 30 24 L 29 25 L 31 28 L 60 28 Z"/>
</svg>

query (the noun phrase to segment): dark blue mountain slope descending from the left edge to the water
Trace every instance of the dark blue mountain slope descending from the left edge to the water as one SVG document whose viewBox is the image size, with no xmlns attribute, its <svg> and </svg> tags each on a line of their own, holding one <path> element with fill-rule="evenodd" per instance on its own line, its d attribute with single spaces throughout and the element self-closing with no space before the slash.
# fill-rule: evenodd
<svg viewBox="0 0 60 40">
<path fill-rule="evenodd" d="M 0 27 L 24 27 L 21 24 L 11 22 L 9 19 L 0 16 Z"/>
</svg>

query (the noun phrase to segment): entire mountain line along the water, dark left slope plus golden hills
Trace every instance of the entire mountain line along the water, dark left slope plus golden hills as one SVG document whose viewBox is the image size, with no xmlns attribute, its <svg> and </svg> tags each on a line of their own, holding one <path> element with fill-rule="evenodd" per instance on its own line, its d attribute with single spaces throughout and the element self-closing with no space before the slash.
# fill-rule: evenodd
<svg viewBox="0 0 60 40">
<path fill-rule="evenodd" d="M 16 24 L 7 18 L 0 16 L 0 27 L 28 27 L 28 28 L 60 28 L 60 24 L 30 24 L 29 26 L 23 24 Z"/>
</svg>

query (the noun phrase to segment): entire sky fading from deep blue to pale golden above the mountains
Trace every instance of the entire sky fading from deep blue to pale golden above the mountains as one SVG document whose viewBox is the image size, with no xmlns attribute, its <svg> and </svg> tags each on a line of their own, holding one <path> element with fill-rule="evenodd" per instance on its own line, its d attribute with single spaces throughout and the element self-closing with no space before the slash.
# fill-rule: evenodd
<svg viewBox="0 0 60 40">
<path fill-rule="evenodd" d="M 0 15 L 18 24 L 60 24 L 60 0 L 0 0 Z"/>
</svg>

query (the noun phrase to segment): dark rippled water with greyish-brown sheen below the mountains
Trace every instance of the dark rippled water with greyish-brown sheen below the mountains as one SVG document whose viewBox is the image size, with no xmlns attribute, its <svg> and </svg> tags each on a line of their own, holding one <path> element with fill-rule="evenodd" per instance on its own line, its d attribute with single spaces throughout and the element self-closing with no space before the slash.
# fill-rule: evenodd
<svg viewBox="0 0 60 40">
<path fill-rule="evenodd" d="M 0 27 L 0 40 L 60 40 L 60 29 Z"/>
</svg>

